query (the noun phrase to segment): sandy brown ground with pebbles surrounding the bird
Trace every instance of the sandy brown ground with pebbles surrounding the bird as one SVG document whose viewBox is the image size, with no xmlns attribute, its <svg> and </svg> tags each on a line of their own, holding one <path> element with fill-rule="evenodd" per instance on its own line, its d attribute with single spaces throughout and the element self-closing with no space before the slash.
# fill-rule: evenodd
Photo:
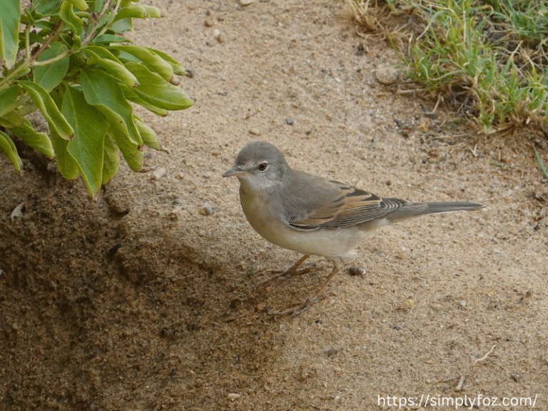
<svg viewBox="0 0 548 411">
<path fill-rule="evenodd" d="M 454 410 L 482 395 L 475 409 L 547 410 L 548 185 L 532 154 L 548 160 L 547 141 L 477 137 L 378 83 L 397 57 L 342 1 L 151 4 L 164 17 L 133 38 L 194 74 L 192 108 L 139 111 L 171 150 L 146 166 L 166 173 L 124 166 L 90 200 L 32 156 L 21 174 L 0 156 L 1 409 Z M 260 238 L 220 177 L 255 140 L 380 196 L 487 208 L 377 232 L 347 261 L 363 275 L 275 321 L 266 308 L 331 267 L 256 287 L 298 255 Z"/>
</svg>

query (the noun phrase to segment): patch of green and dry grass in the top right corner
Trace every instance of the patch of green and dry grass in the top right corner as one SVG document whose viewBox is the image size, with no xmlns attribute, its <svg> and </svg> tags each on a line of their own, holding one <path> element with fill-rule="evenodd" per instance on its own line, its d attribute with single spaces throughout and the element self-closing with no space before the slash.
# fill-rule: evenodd
<svg viewBox="0 0 548 411">
<path fill-rule="evenodd" d="M 548 0 L 347 0 L 384 34 L 407 89 L 450 101 L 483 133 L 548 132 Z"/>
</svg>

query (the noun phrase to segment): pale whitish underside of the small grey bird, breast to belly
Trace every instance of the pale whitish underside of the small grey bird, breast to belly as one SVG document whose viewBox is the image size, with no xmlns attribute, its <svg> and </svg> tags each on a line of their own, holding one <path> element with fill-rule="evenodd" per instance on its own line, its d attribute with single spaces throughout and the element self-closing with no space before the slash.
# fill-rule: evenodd
<svg viewBox="0 0 548 411">
<path fill-rule="evenodd" d="M 248 196 L 240 191 L 240 203 L 251 226 L 263 238 L 288 250 L 305 255 L 344 257 L 355 250 L 367 233 L 359 228 L 301 231 L 285 225 L 261 194 Z"/>
</svg>

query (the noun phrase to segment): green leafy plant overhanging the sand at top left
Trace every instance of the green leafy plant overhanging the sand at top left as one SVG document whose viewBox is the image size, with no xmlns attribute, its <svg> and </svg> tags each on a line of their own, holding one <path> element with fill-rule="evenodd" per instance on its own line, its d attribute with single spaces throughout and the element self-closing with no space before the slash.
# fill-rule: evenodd
<svg viewBox="0 0 548 411">
<path fill-rule="evenodd" d="M 82 176 L 91 196 L 118 171 L 133 171 L 143 146 L 161 150 L 131 102 L 165 116 L 193 102 L 175 85 L 183 66 L 122 34 L 132 19 L 159 17 L 138 0 L 0 0 L 0 149 L 17 170 L 21 158 L 6 131 L 53 158 L 68 179 Z M 49 136 L 26 116 L 39 110 Z M 2 131 L 2 128 L 4 131 Z"/>
</svg>

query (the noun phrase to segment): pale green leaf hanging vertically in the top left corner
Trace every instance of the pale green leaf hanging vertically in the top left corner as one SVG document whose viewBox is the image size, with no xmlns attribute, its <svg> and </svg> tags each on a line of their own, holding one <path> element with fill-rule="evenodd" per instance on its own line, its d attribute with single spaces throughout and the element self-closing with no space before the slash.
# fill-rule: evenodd
<svg viewBox="0 0 548 411">
<path fill-rule="evenodd" d="M 2 0 L 0 2 L 0 58 L 6 66 L 15 64 L 19 51 L 19 21 L 21 20 L 21 1 Z"/>
</svg>

